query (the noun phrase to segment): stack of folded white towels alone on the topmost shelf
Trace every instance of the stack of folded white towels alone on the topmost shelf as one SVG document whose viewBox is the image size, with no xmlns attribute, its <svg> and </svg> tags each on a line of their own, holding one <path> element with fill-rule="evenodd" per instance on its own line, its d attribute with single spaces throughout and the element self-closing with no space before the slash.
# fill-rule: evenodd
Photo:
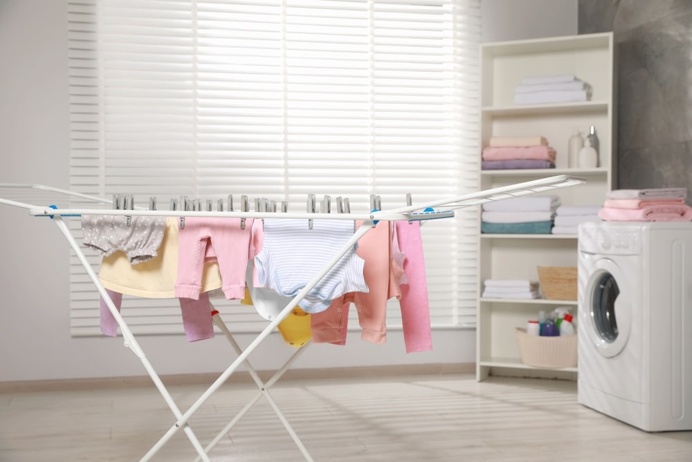
<svg viewBox="0 0 692 462">
<path fill-rule="evenodd" d="M 591 85 L 576 75 L 534 75 L 514 88 L 514 104 L 568 103 L 591 99 Z"/>
</svg>

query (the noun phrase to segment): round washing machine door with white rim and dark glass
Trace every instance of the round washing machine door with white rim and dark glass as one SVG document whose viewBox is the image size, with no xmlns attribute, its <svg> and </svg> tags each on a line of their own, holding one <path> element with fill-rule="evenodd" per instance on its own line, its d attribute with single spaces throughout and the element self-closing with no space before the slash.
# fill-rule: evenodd
<svg viewBox="0 0 692 462">
<path fill-rule="evenodd" d="M 619 355 L 630 337 L 635 287 L 623 269 L 611 258 L 594 260 L 580 303 L 582 333 L 603 357 Z"/>
</svg>

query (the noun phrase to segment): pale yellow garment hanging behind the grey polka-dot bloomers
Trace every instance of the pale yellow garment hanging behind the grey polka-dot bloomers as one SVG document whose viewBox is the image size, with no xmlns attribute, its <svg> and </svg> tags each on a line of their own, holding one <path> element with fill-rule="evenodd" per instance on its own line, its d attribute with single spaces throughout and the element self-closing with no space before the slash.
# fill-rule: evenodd
<svg viewBox="0 0 692 462">
<path fill-rule="evenodd" d="M 166 219 L 158 256 L 152 260 L 131 265 L 124 252 L 118 251 L 101 260 L 98 272 L 103 287 L 149 299 L 174 299 L 178 278 L 178 223 L 174 217 Z M 202 274 L 201 292 L 221 287 L 221 273 L 216 260 L 206 262 Z"/>
</svg>

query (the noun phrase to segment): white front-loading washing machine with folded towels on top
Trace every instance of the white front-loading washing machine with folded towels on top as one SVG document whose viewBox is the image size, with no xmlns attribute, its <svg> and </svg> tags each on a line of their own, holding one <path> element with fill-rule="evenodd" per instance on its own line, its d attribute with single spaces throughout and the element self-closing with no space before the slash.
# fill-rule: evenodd
<svg viewBox="0 0 692 462">
<path fill-rule="evenodd" d="M 692 429 L 692 222 L 579 225 L 582 405 L 646 432 Z"/>
</svg>

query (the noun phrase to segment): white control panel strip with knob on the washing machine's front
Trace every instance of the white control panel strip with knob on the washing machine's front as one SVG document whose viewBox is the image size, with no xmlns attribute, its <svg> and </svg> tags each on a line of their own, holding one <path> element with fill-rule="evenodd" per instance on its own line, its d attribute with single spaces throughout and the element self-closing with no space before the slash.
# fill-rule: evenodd
<svg viewBox="0 0 692 462">
<path fill-rule="evenodd" d="M 579 250 L 591 254 L 637 255 L 641 253 L 641 228 L 602 223 L 579 227 Z"/>
</svg>

